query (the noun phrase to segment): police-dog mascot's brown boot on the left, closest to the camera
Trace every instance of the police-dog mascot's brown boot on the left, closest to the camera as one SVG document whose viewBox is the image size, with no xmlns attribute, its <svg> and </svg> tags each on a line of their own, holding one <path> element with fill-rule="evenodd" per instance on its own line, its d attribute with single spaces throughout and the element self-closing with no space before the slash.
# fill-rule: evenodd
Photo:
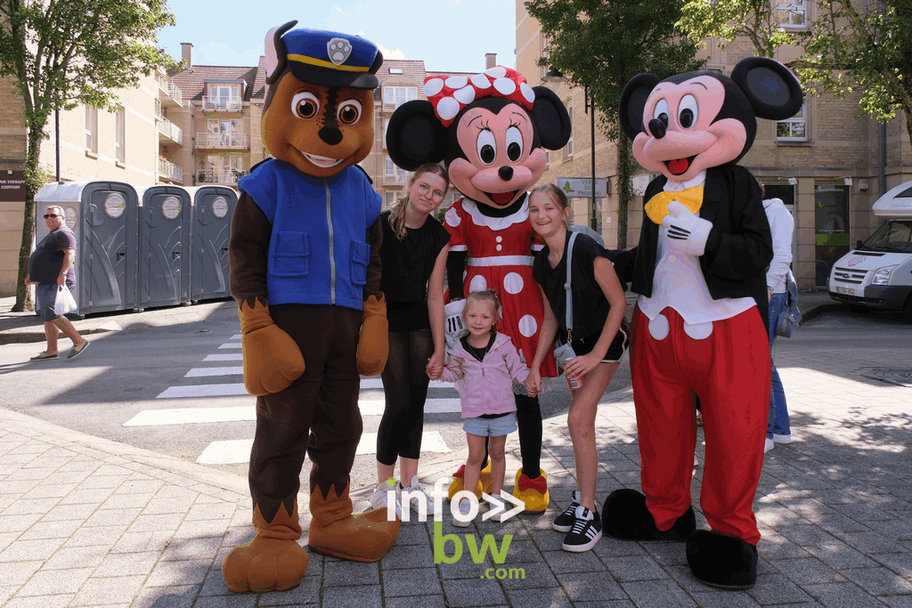
<svg viewBox="0 0 912 608">
<path fill-rule="evenodd" d="M 297 543 L 301 525 L 297 500 L 291 515 L 285 504 L 279 506 L 272 523 L 266 523 L 260 507 L 254 509 L 253 541 L 235 547 L 222 562 L 222 575 L 233 592 L 285 591 L 297 586 L 307 570 L 307 551 Z"/>
</svg>

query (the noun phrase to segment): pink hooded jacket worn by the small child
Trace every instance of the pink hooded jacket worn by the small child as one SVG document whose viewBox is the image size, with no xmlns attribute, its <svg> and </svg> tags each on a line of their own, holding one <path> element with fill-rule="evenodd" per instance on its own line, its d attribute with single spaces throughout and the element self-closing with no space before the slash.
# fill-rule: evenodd
<svg viewBox="0 0 912 608">
<path fill-rule="evenodd" d="M 472 356 L 462 341 L 447 357 L 441 380 L 455 382 L 462 402 L 462 417 L 505 414 L 515 411 L 513 380 L 525 382 L 529 368 L 523 363 L 508 335 L 495 334 L 483 361 Z"/>
</svg>

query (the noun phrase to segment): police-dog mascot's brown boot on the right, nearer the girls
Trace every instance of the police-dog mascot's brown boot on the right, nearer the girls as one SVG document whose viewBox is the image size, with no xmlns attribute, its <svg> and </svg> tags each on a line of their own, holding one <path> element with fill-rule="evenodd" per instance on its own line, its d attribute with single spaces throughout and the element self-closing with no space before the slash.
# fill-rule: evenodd
<svg viewBox="0 0 912 608">
<path fill-rule="evenodd" d="M 310 493 L 310 530 L 307 546 L 323 555 L 353 562 L 378 562 L 399 535 L 399 518 L 387 520 L 386 509 L 369 510 L 352 517 L 347 484 L 339 496 L 336 486 L 326 498 L 319 485 Z"/>
</svg>

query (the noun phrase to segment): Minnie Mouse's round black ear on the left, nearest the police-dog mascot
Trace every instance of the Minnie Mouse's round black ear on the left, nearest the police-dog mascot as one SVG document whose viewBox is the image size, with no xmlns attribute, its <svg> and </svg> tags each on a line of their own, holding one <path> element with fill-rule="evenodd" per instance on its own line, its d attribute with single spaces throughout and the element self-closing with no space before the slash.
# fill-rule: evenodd
<svg viewBox="0 0 912 608">
<path fill-rule="evenodd" d="M 387 150 L 396 166 L 412 171 L 426 162 L 440 162 L 446 148 L 446 129 L 434 116 L 430 101 L 409 101 L 393 112 L 387 125 Z"/>
</svg>

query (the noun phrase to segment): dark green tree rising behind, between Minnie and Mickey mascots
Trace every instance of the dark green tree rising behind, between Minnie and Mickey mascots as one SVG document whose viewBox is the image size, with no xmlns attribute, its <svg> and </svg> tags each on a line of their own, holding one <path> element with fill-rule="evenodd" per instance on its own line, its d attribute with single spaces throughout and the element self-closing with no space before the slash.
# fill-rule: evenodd
<svg viewBox="0 0 912 608">
<path fill-rule="evenodd" d="M 697 44 L 680 36 L 679 0 L 530 0 L 526 9 L 548 38 L 545 67 L 588 87 L 599 128 L 617 142 L 617 246 L 627 247 L 627 208 L 637 161 L 620 129 L 617 108 L 627 81 L 643 72 L 660 78 L 700 69 Z M 592 111 L 592 110 L 590 110 Z"/>
</svg>

